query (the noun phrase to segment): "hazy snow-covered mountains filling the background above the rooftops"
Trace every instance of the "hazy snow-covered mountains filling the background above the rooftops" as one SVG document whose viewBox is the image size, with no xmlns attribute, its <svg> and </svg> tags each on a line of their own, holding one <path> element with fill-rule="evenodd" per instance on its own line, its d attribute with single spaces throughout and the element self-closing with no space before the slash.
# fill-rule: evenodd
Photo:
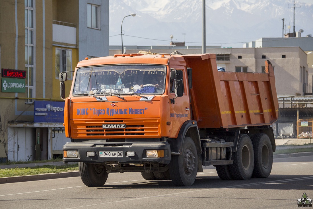
<svg viewBox="0 0 313 209">
<path fill-rule="evenodd" d="M 296 1 L 295 9 L 295 30 L 303 29 L 302 37 L 313 34 L 313 0 L 304 1 L 309 3 Z M 123 22 L 124 45 L 169 45 L 171 34 L 173 42 L 201 45 L 202 0 L 110 0 L 109 7 L 110 45 L 121 45 L 121 21 L 131 13 L 136 16 Z M 293 0 L 206 0 L 207 45 L 242 47 L 282 37 L 282 18 L 292 32 Z"/>
</svg>

